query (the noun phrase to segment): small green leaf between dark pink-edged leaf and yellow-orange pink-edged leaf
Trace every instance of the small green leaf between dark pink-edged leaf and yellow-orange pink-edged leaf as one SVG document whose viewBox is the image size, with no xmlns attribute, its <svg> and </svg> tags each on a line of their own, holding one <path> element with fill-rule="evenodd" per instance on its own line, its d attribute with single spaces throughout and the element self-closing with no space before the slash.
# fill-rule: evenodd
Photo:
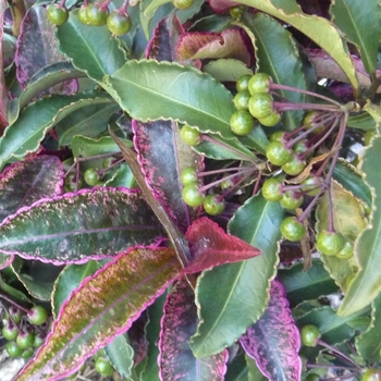
<svg viewBox="0 0 381 381">
<path fill-rule="evenodd" d="M 97 270 L 100 269 L 99 262 L 96 260 L 89 260 L 83 265 L 67 265 L 60 273 L 54 282 L 53 294 L 52 294 L 52 314 L 57 319 L 63 303 L 69 299 L 72 291 L 77 288 L 81 282 L 93 275 Z"/>
</svg>

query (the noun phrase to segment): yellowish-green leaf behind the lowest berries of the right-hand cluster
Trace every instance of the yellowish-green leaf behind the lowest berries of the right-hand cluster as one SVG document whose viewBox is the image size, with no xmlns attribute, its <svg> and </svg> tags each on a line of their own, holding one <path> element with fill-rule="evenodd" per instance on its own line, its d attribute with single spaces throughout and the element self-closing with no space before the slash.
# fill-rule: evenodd
<svg viewBox="0 0 381 381">
<path fill-rule="evenodd" d="M 334 229 L 342 233 L 347 239 L 355 241 L 366 226 L 361 204 L 335 181 L 332 181 L 331 194 Z M 329 198 L 325 193 L 319 199 L 316 212 L 317 233 L 328 229 L 329 208 Z M 357 268 L 355 257 L 346 260 L 339 259 L 335 256 L 323 255 L 321 256 L 321 260 L 331 276 L 341 287 L 345 285 L 346 278 Z"/>
</svg>

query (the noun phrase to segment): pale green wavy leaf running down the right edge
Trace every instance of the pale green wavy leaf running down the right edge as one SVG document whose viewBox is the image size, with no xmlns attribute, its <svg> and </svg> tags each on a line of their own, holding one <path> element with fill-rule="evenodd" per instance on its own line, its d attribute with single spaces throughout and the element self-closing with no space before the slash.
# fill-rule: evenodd
<svg viewBox="0 0 381 381">
<path fill-rule="evenodd" d="M 367 229 L 355 243 L 358 272 L 352 282 L 337 314 L 348 316 L 369 305 L 381 291 L 381 137 L 377 135 L 372 145 L 365 149 L 360 162 L 365 182 L 372 194 L 372 213 Z"/>
</svg>

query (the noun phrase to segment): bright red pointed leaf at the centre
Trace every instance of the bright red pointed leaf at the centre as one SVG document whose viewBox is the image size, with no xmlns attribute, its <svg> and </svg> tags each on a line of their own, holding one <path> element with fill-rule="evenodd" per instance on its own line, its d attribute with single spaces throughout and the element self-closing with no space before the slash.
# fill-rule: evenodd
<svg viewBox="0 0 381 381">
<path fill-rule="evenodd" d="M 216 222 L 202 217 L 185 233 L 193 260 L 184 273 L 199 272 L 224 263 L 233 263 L 258 256 L 261 251 L 245 241 L 225 233 Z"/>
</svg>

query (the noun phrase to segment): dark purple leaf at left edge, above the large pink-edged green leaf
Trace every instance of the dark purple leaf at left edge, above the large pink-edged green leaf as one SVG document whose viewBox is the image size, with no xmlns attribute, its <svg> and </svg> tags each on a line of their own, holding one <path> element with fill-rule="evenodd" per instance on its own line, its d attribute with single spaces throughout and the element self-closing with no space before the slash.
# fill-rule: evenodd
<svg viewBox="0 0 381 381">
<path fill-rule="evenodd" d="M 0 221 L 21 207 L 62 193 L 63 168 L 56 156 L 38 156 L 8 167 L 0 175 Z"/>
</svg>

